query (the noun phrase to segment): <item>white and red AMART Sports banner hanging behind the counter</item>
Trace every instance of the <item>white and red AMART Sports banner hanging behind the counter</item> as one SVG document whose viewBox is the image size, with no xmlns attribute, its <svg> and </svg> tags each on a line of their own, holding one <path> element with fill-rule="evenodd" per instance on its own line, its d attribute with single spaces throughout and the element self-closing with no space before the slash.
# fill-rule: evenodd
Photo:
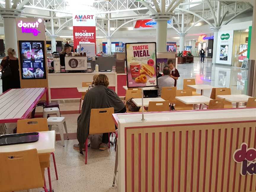
<svg viewBox="0 0 256 192">
<path fill-rule="evenodd" d="M 76 12 L 73 14 L 74 49 L 82 43 L 95 43 L 96 49 L 96 15 L 95 11 Z"/>
</svg>

